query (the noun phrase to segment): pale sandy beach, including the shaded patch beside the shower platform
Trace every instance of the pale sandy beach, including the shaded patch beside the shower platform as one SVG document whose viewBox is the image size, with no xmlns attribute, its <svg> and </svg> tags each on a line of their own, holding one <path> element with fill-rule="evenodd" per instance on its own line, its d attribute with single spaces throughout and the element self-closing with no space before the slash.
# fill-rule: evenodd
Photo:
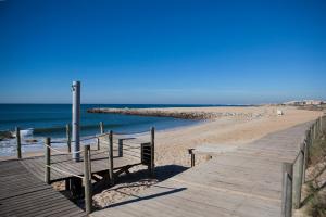
<svg viewBox="0 0 326 217">
<path fill-rule="evenodd" d="M 156 108 L 152 108 L 156 110 Z M 277 110 L 284 115 L 278 116 Z M 195 126 L 180 127 L 155 135 L 155 166 L 159 180 L 149 180 L 143 174 L 134 182 L 122 181 L 113 189 L 104 190 L 93 196 L 96 206 L 101 208 L 126 196 L 137 195 L 143 189 L 156 181 L 173 176 L 190 166 L 188 149 L 218 148 L 221 151 L 231 151 L 239 145 L 246 145 L 271 132 L 287 129 L 301 123 L 314 120 L 323 112 L 298 110 L 291 106 L 250 106 L 250 107 L 174 107 L 160 108 L 162 112 L 205 112 L 228 114 L 204 120 Z M 233 114 L 233 115 L 229 115 Z M 197 155 L 196 164 L 208 161 L 206 155 Z M 178 168 L 177 171 L 170 169 Z M 137 170 L 139 168 L 135 168 Z"/>
</svg>

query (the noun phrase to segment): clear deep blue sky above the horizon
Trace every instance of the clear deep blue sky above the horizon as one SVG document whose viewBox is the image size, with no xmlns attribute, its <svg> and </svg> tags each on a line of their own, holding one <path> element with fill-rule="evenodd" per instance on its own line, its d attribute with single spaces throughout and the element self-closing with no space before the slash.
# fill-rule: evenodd
<svg viewBox="0 0 326 217">
<path fill-rule="evenodd" d="M 326 99 L 326 1 L 0 1 L 0 103 Z"/>
</svg>

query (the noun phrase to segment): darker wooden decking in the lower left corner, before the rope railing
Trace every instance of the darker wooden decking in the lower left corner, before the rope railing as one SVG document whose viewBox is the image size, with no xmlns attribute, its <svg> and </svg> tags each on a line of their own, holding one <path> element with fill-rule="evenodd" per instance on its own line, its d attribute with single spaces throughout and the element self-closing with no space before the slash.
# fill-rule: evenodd
<svg viewBox="0 0 326 217">
<path fill-rule="evenodd" d="M 0 216 L 86 216 L 61 193 L 30 174 L 20 161 L 0 162 Z"/>
</svg>

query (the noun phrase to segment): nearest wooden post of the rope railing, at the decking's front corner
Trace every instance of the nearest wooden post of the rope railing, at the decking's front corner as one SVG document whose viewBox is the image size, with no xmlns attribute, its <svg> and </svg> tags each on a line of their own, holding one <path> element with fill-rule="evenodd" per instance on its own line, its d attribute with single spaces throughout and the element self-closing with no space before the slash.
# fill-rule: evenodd
<svg viewBox="0 0 326 217">
<path fill-rule="evenodd" d="M 86 214 L 91 213 L 91 170 L 90 170 L 90 145 L 84 146 L 84 186 L 85 186 L 85 209 Z"/>
</svg>

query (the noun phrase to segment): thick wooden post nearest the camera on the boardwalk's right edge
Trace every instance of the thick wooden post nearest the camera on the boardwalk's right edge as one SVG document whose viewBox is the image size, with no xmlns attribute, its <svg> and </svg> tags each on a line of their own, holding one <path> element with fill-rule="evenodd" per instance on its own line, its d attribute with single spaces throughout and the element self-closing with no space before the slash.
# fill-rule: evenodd
<svg viewBox="0 0 326 217">
<path fill-rule="evenodd" d="M 281 217 L 292 215 L 292 176 L 293 164 L 283 163 Z"/>
</svg>

